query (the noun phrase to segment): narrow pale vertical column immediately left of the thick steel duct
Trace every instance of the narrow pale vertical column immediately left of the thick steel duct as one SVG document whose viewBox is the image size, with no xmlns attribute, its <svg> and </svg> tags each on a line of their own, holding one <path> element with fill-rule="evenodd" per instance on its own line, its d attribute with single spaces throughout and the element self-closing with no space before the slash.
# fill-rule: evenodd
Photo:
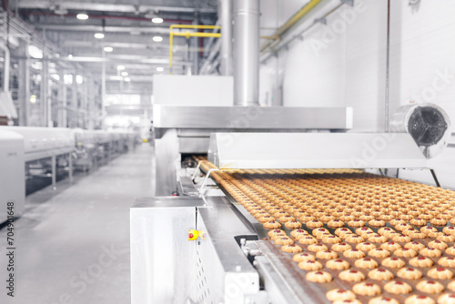
<svg viewBox="0 0 455 304">
<path fill-rule="evenodd" d="M 221 24 L 221 73 L 232 75 L 232 0 L 219 0 Z"/>
</svg>

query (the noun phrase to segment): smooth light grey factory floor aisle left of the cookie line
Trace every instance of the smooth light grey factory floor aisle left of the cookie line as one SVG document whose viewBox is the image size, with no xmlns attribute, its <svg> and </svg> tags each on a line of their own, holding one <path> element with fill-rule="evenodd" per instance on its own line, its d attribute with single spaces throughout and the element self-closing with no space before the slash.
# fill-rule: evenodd
<svg viewBox="0 0 455 304">
<path fill-rule="evenodd" d="M 15 297 L 0 303 L 130 303 L 129 208 L 154 193 L 153 147 L 27 197 L 15 221 Z M 4 251 L 6 229 L 0 230 Z M 7 261 L 0 258 L 0 268 Z"/>
</svg>

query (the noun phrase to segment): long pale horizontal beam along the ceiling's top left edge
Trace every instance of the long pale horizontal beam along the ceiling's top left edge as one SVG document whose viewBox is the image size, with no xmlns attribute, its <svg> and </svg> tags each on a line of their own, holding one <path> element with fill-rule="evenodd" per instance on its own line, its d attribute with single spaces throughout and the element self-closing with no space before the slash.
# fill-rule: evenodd
<svg viewBox="0 0 455 304">
<path fill-rule="evenodd" d="M 67 2 L 67 1 L 49 1 L 49 0 L 19 0 L 18 3 L 12 3 L 12 8 L 25 9 L 50 9 L 56 7 L 59 9 L 88 11 L 88 12 L 117 12 L 144 14 L 148 12 L 173 12 L 173 13 L 217 13 L 217 8 L 197 8 L 197 7 L 175 7 L 160 5 L 123 5 L 91 2 Z"/>
</svg>

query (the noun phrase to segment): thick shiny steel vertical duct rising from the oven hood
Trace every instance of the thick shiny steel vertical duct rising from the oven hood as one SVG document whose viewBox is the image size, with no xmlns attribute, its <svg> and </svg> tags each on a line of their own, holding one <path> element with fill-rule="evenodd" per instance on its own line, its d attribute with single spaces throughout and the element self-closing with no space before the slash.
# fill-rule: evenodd
<svg viewBox="0 0 455 304">
<path fill-rule="evenodd" d="M 233 0 L 234 105 L 259 105 L 259 0 Z"/>
</svg>

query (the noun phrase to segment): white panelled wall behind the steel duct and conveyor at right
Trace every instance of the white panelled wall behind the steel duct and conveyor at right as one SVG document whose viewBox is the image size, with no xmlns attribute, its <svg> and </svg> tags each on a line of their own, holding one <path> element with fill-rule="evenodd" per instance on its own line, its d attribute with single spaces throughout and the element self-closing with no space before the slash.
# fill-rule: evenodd
<svg viewBox="0 0 455 304">
<path fill-rule="evenodd" d="M 343 5 L 329 16 L 327 25 L 313 26 L 277 56 L 262 57 L 268 59 L 259 72 L 261 103 L 271 104 L 282 96 L 284 106 L 353 106 L 353 131 L 384 130 L 387 1 L 355 3 L 354 9 Z M 261 21 L 262 27 L 278 27 L 284 16 L 300 8 L 296 1 L 263 0 L 261 5 L 261 20 L 267 20 Z M 323 0 L 284 40 L 336 5 L 339 0 Z M 432 102 L 455 124 L 454 13 L 453 0 L 421 0 L 418 6 L 391 1 L 390 113 L 410 102 Z M 263 29 L 261 35 L 270 32 Z M 443 185 L 455 187 L 454 148 L 432 159 L 430 166 Z M 401 176 L 426 182 L 431 178 L 428 172 Z"/>
</svg>

